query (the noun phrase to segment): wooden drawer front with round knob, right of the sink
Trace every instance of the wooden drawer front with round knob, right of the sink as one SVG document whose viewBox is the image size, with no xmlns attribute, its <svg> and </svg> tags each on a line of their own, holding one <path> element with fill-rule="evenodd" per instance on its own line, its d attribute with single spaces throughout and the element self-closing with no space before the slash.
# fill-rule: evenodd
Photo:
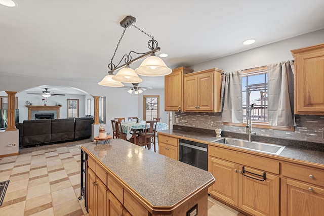
<svg viewBox="0 0 324 216">
<path fill-rule="evenodd" d="M 292 163 L 281 164 L 282 176 L 304 181 L 310 184 L 323 186 L 324 185 L 324 171 L 321 169 L 311 168 Z"/>
</svg>

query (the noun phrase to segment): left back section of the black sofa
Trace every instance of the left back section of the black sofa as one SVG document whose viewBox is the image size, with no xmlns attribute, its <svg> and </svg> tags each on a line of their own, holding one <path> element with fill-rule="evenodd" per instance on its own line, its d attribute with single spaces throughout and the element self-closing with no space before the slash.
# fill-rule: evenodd
<svg viewBox="0 0 324 216">
<path fill-rule="evenodd" d="M 24 120 L 22 146 L 51 142 L 51 119 Z"/>
</svg>

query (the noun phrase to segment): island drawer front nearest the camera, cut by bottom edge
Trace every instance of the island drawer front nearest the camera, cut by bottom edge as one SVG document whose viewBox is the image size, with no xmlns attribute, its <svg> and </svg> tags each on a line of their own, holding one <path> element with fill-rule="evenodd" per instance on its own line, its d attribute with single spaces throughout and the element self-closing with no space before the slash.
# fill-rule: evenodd
<svg viewBox="0 0 324 216">
<path fill-rule="evenodd" d="M 132 214 L 148 216 L 148 210 L 143 207 L 129 192 L 124 193 L 124 207 Z"/>
</svg>

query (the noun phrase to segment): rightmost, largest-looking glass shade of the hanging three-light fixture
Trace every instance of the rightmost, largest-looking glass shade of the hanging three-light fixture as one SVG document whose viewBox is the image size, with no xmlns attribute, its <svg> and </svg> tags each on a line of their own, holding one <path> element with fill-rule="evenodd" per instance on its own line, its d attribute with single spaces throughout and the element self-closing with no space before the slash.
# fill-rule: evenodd
<svg viewBox="0 0 324 216">
<path fill-rule="evenodd" d="M 172 69 L 168 68 L 162 59 L 152 53 L 135 69 L 135 72 L 142 76 L 165 76 L 170 74 Z"/>
</svg>

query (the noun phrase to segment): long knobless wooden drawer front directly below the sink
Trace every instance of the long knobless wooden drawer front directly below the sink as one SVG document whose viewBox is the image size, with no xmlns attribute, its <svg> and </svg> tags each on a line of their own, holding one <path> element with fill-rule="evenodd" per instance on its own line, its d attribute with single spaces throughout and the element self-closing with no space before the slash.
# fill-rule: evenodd
<svg viewBox="0 0 324 216">
<path fill-rule="evenodd" d="M 208 155 L 279 175 L 280 163 L 277 160 L 215 146 L 208 146 Z"/>
</svg>

